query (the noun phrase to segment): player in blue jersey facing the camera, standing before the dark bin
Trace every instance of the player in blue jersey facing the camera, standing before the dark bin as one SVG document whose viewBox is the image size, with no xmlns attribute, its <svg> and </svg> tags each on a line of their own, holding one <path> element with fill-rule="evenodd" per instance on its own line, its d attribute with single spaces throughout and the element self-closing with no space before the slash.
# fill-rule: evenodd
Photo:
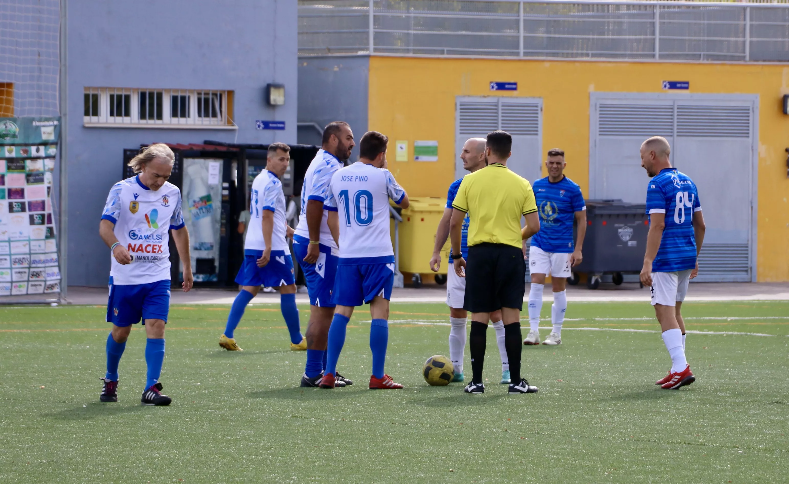
<svg viewBox="0 0 789 484">
<path fill-rule="evenodd" d="M 548 176 L 534 182 L 534 198 L 540 213 L 540 231 L 532 238 L 529 248 L 529 269 L 532 285 L 529 289 L 529 334 L 523 344 L 540 344 L 540 311 L 545 276 L 551 274 L 553 329 L 543 344 L 562 344 L 562 325 L 567 311 L 567 278 L 571 267 L 581 264 L 586 235 L 586 204 L 581 187 L 564 175 L 564 152 L 548 150 L 545 167 Z M 573 219 L 578 224 L 578 235 L 573 248 Z"/>
</svg>

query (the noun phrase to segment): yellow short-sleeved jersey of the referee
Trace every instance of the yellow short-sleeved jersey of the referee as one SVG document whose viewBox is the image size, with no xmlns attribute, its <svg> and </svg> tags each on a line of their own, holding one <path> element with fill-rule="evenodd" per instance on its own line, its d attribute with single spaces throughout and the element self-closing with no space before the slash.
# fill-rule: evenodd
<svg viewBox="0 0 789 484">
<path fill-rule="evenodd" d="M 469 214 L 469 246 L 521 247 L 521 216 L 537 212 L 529 181 L 500 163 L 463 177 L 452 207 Z"/>
</svg>

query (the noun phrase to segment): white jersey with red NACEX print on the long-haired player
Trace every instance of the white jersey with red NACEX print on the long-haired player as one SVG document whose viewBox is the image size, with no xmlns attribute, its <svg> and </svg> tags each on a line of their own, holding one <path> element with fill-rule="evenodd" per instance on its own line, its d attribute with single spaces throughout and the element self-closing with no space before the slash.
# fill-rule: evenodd
<svg viewBox="0 0 789 484">
<path fill-rule="evenodd" d="M 155 283 L 170 280 L 170 229 L 184 227 L 181 190 L 165 182 L 158 190 L 140 182 L 140 176 L 126 178 L 110 189 L 102 219 L 115 224 L 118 242 L 129 250 L 132 263 L 112 260 L 110 276 L 114 284 Z"/>
</svg>

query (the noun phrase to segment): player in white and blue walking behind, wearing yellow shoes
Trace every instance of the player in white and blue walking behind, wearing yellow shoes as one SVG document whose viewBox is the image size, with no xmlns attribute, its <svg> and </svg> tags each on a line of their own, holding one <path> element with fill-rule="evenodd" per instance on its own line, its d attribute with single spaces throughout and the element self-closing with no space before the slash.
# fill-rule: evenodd
<svg viewBox="0 0 789 484">
<path fill-rule="evenodd" d="M 286 239 L 293 236 L 293 229 L 288 227 L 285 219 L 285 194 L 280 181 L 289 164 L 290 146 L 271 143 L 268 145 L 266 169 L 252 181 L 244 262 L 236 276 L 241 291 L 230 307 L 225 332 L 219 336 L 219 346 L 228 351 L 243 351 L 236 343 L 234 332 L 260 286 L 279 289 L 279 307 L 290 333 L 290 349 L 300 351 L 307 347 L 301 336 L 294 262 Z"/>
</svg>

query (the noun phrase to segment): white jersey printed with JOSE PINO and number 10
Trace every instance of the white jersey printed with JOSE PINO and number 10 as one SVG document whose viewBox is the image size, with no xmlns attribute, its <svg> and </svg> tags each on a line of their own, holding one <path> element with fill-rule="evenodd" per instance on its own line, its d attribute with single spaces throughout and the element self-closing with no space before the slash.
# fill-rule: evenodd
<svg viewBox="0 0 789 484">
<path fill-rule="evenodd" d="M 331 177 L 325 206 L 337 210 L 340 225 L 340 264 L 394 262 L 389 235 L 389 199 L 406 196 L 394 176 L 383 168 L 357 161 Z"/>
</svg>

